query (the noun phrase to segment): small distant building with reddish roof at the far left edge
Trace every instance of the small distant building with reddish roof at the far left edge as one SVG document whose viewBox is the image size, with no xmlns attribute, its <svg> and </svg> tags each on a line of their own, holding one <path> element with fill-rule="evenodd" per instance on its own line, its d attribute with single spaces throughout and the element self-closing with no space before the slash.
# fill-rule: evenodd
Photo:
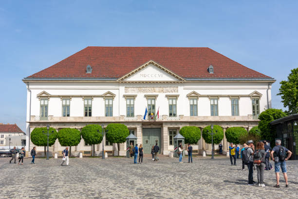
<svg viewBox="0 0 298 199">
<path fill-rule="evenodd" d="M 17 124 L 0 123 L 0 149 L 26 146 L 26 134 Z"/>
</svg>

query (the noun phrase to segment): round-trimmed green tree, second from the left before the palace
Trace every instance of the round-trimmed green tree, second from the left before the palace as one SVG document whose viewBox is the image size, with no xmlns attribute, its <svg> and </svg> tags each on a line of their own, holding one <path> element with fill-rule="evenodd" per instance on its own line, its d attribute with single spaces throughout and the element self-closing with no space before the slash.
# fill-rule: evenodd
<svg viewBox="0 0 298 199">
<path fill-rule="evenodd" d="M 70 146 L 69 157 L 71 156 L 72 146 L 76 146 L 81 141 L 81 132 L 73 128 L 63 128 L 57 134 L 61 146 Z"/>
</svg>

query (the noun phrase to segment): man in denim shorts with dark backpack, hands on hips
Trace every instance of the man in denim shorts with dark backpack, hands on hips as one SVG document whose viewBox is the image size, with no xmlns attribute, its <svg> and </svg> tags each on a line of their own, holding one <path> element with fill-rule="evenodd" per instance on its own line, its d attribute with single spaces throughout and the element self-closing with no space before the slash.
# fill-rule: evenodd
<svg viewBox="0 0 298 199">
<path fill-rule="evenodd" d="M 274 170 L 276 175 L 276 185 L 274 185 L 274 187 L 279 188 L 279 167 L 281 167 L 284 180 L 286 181 L 286 187 L 289 187 L 286 161 L 292 156 L 292 152 L 286 147 L 280 145 L 280 139 L 275 140 L 275 144 L 276 146 L 273 147 L 270 153 L 271 159 L 274 160 Z M 288 154 L 288 157 L 286 157 L 286 153 Z"/>
</svg>

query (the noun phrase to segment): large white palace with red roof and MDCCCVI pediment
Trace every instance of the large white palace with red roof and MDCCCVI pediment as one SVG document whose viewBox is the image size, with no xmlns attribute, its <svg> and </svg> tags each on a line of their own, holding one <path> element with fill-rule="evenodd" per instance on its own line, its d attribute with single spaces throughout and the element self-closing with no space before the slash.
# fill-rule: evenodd
<svg viewBox="0 0 298 199">
<path fill-rule="evenodd" d="M 249 131 L 260 112 L 271 107 L 275 80 L 210 48 L 87 47 L 49 68 L 23 79 L 27 85 L 27 132 L 49 124 L 81 129 L 87 124 L 123 123 L 150 153 L 156 140 L 161 153 L 173 151 L 173 137 L 187 125 L 241 126 Z M 145 109 L 146 119 L 143 119 Z M 159 110 L 159 117 L 151 119 Z M 223 138 L 223 151 L 228 142 Z M 95 155 L 117 153 L 103 140 Z M 33 148 L 30 141 L 29 150 Z M 61 153 L 58 140 L 50 148 Z M 217 149 L 218 146 L 215 146 Z M 72 154 L 93 147 L 82 139 Z M 211 151 L 200 139 L 194 152 Z M 43 147 L 37 147 L 42 152 Z M 126 154 L 126 143 L 120 155 Z"/>
</svg>

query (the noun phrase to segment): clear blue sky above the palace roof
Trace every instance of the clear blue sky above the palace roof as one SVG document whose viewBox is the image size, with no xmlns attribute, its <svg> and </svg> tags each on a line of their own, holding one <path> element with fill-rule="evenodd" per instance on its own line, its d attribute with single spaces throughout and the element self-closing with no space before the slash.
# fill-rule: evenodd
<svg viewBox="0 0 298 199">
<path fill-rule="evenodd" d="M 209 47 L 279 82 L 298 67 L 298 1 L 31 0 L 0 3 L 0 122 L 25 131 L 22 78 L 86 46 Z"/>
</svg>

